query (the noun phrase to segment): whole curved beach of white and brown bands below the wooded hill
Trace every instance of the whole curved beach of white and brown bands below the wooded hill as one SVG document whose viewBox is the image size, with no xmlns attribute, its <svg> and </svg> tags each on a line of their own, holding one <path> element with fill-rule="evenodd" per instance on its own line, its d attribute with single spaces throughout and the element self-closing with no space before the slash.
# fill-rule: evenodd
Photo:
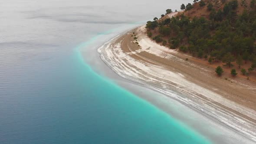
<svg viewBox="0 0 256 144">
<path fill-rule="evenodd" d="M 138 44 L 131 36 L 133 33 L 138 37 Z M 145 26 L 116 36 L 98 52 L 121 77 L 181 101 L 256 139 L 255 83 L 217 77 L 215 69 L 153 42 L 146 35 Z"/>
</svg>

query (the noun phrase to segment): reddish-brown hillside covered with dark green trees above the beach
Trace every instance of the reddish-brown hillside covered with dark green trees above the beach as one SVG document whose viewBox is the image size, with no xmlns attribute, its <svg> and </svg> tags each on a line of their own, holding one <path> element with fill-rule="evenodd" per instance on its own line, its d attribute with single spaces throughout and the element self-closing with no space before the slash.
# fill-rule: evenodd
<svg viewBox="0 0 256 144">
<path fill-rule="evenodd" d="M 233 76 L 256 78 L 256 0 L 197 1 L 182 4 L 175 17 L 169 18 L 168 9 L 159 20 L 148 21 L 148 36 L 225 71 L 235 69 Z"/>
</svg>

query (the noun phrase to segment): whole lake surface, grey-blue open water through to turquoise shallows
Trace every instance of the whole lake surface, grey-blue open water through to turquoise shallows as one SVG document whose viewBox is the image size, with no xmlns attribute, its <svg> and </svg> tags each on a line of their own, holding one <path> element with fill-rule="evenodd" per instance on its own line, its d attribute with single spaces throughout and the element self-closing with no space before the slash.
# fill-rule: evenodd
<svg viewBox="0 0 256 144">
<path fill-rule="evenodd" d="M 0 143 L 210 143 L 85 63 L 101 62 L 92 48 L 122 26 L 152 17 L 137 13 L 142 4 L 152 13 L 164 10 L 123 3 L 135 11 L 124 16 L 131 8 L 119 14 L 110 2 L 0 2 Z M 94 53 L 84 59 L 79 49 Z"/>
</svg>

